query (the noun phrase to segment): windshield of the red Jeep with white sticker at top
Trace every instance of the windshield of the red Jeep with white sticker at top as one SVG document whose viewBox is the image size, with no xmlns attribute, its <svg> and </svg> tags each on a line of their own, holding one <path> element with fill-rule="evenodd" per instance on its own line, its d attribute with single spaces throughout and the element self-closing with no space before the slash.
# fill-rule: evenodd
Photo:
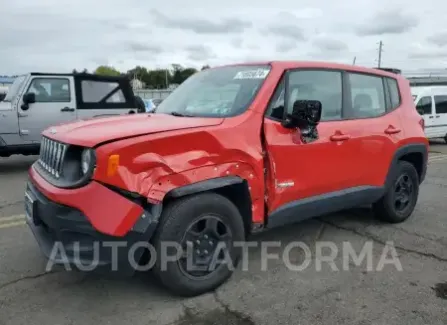
<svg viewBox="0 0 447 325">
<path fill-rule="evenodd" d="M 157 107 L 177 116 L 230 117 L 243 113 L 270 72 L 270 66 L 207 69 L 189 77 Z"/>
</svg>

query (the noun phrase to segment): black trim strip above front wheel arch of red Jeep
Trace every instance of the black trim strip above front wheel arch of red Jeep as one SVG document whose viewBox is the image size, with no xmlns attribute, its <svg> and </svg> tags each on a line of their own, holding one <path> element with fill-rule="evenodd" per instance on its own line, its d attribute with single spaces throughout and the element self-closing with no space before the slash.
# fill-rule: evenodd
<svg viewBox="0 0 447 325">
<path fill-rule="evenodd" d="M 244 179 L 239 176 L 224 176 L 199 181 L 189 185 L 181 186 L 169 191 L 165 198 L 179 198 L 182 196 L 215 190 L 229 185 L 241 184 Z"/>
</svg>

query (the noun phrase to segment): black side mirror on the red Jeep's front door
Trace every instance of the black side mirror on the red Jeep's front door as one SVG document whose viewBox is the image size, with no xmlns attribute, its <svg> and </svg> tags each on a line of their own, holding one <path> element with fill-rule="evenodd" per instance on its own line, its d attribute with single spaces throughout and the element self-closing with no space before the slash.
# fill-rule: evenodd
<svg viewBox="0 0 447 325">
<path fill-rule="evenodd" d="M 287 128 L 316 126 L 321 119 L 321 102 L 318 100 L 297 100 L 293 103 L 292 114 L 283 122 Z"/>
</svg>

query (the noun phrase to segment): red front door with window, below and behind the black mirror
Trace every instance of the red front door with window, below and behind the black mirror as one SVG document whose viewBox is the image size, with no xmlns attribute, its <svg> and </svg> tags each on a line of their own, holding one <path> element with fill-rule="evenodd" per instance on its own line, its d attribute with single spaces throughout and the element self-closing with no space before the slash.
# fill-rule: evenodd
<svg viewBox="0 0 447 325">
<path fill-rule="evenodd" d="M 317 202 L 326 196 L 329 200 L 321 201 L 320 207 L 323 207 L 323 204 L 330 202 L 331 195 L 337 196 L 337 193 L 358 185 L 361 168 L 365 168 L 360 160 L 366 160 L 362 155 L 357 155 L 357 142 L 349 138 L 349 130 L 346 128 L 350 127 L 350 121 L 342 120 L 342 72 L 289 72 L 289 88 L 286 92 L 286 101 L 289 104 L 300 99 L 319 100 L 322 103 L 322 119 L 317 127 L 318 138 L 307 143 L 302 141 L 300 130 L 281 125 L 284 84 L 284 80 L 279 84 L 264 121 L 269 166 L 269 214 L 303 199 Z M 291 109 L 291 105 L 287 106 Z M 329 206 L 325 208 L 331 209 Z M 311 205 L 307 209 L 312 209 Z M 311 213 L 291 212 L 290 217 L 300 219 L 299 215 L 302 214 L 306 218 L 305 214 L 308 212 Z"/>
</svg>

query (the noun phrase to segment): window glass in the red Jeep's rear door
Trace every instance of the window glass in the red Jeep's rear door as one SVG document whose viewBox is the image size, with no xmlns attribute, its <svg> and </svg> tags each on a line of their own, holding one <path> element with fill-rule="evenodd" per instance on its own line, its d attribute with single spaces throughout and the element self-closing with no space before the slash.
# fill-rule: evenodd
<svg viewBox="0 0 447 325">
<path fill-rule="evenodd" d="M 348 73 L 351 85 L 352 110 L 350 118 L 376 117 L 386 112 L 385 89 L 382 77 Z"/>
</svg>

